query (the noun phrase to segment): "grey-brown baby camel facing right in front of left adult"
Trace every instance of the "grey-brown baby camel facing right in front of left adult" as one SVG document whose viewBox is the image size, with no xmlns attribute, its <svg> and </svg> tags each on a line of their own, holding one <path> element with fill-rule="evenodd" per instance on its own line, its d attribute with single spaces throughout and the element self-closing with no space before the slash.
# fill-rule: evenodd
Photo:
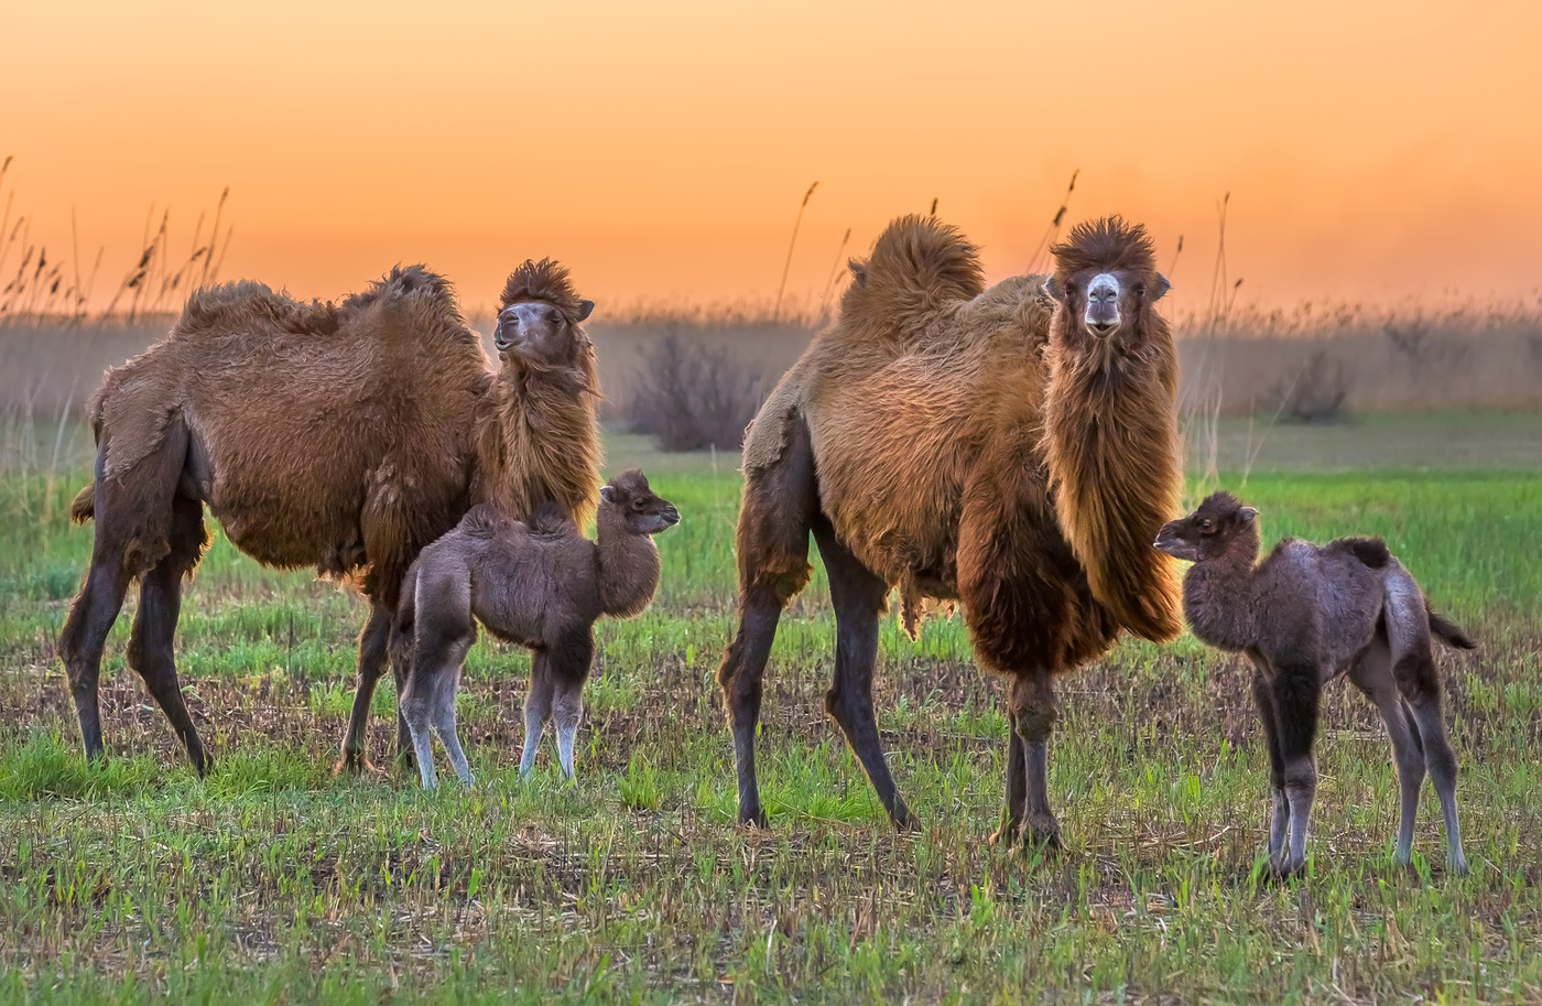
<svg viewBox="0 0 1542 1006">
<path fill-rule="evenodd" d="M 424 788 L 435 787 L 430 725 L 455 775 L 472 782 L 455 733 L 455 688 L 476 642 L 476 622 L 532 650 L 520 771 L 535 767 L 535 748 L 555 711 L 558 758 L 563 775 L 572 778 L 594 623 L 600 616 L 629 619 L 648 608 L 660 571 L 652 535 L 678 522 L 674 505 L 632 469 L 600 491 L 598 542 L 583 537 L 554 505 L 540 508 L 529 523 L 483 505 L 423 549 L 402 582 L 395 645 L 412 640 L 402 710 Z"/>
</svg>

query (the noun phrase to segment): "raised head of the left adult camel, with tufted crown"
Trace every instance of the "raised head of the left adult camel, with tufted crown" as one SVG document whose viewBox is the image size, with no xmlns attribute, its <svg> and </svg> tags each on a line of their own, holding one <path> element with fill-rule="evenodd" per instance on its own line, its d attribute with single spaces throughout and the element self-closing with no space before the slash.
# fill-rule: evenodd
<svg viewBox="0 0 1542 1006">
<path fill-rule="evenodd" d="M 493 344 L 504 358 L 580 367 L 592 346 L 578 324 L 592 310 L 594 301 L 578 298 L 564 267 L 552 259 L 527 259 L 503 287 Z"/>
</svg>

